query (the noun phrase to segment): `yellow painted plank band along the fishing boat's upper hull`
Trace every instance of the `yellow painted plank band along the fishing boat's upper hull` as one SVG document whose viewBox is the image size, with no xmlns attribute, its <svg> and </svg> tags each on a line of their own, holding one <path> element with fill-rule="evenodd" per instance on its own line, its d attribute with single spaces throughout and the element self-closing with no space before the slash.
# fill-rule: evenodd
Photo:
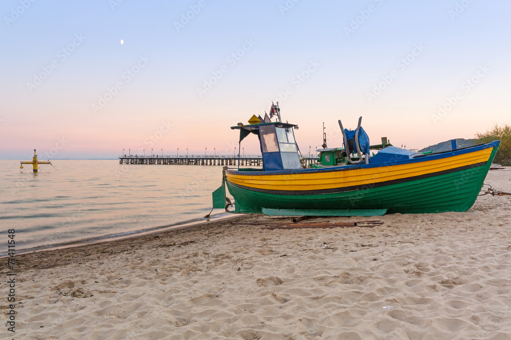
<svg viewBox="0 0 511 340">
<path fill-rule="evenodd" d="M 335 189 L 427 175 L 483 163 L 489 160 L 492 150 L 493 148 L 485 148 L 442 159 L 374 168 L 262 175 L 234 174 L 226 171 L 225 175 L 231 183 L 255 189 L 290 191 Z"/>
</svg>

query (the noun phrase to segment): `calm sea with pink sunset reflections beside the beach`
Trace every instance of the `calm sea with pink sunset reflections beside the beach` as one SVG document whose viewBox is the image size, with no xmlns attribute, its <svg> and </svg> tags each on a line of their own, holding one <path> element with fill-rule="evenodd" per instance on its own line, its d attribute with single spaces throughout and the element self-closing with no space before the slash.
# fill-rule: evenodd
<svg viewBox="0 0 511 340">
<path fill-rule="evenodd" d="M 16 230 L 17 251 L 205 221 L 211 193 L 222 181 L 221 166 L 121 165 L 116 160 L 52 164 L 59 171 L 41 165 L 34 174 L 31 165 L 20 171 L 19 161 L 0 161 L 0 230 Z M 224 215 L 215 209 L 211 216 Z"/>
</svg>

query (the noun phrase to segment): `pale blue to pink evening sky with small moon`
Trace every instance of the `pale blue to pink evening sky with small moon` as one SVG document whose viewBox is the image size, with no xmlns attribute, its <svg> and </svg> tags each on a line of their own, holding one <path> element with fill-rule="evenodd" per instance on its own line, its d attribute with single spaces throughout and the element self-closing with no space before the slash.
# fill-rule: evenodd
<svg viewBox="0 0 511 340">
<path fill-rule="evenodd" d="M 474 138 L 511 123 L 509 12 L 507 0 L 4 0 L 0 159 L 234 154 L 229 127 L 272 101 L 304 154 L 323 122 L 339 147 L 338 120 L 360 116 L 371 144 Z M 255 137 L 241 146 L 260 153 Z"/>
</svg>

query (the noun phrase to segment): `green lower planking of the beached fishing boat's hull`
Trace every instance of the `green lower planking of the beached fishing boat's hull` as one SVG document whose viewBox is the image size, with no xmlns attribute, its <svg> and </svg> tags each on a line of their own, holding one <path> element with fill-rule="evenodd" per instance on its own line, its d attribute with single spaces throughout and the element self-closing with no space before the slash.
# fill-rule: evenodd
<svg viewBox="0 0 511 340">
<path fill-rule="evenodd" d="M 497 152 L 480 166 L 411 179 L 377 188 L 322 193 L 317 195 L 283 195 L 264 193 L 226 181 L 235 197 L 236 213 L 263 213 L 263 208 L 309 210 L 386 209 L 387 213 L 423 214 L 464 212 L 477 199 L 484 178 Z"/>
</svg>

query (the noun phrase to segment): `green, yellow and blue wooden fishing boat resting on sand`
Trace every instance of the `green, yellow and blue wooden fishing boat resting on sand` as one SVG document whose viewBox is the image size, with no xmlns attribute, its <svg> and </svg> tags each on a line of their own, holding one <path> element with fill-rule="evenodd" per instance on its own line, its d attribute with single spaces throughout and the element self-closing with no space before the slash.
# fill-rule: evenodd
<svg viewBox="0 0 511 340">
<path fill-rule="evenodd" d="M 253 116 L 249 124 L 231 127 L 240 130 L 240 145 L 251 134 L 259 138 L 263 167 L 224 167 L 214 208 L 234 205 L 234 213 L 286 216 L 463 212 L 474 204 L 500 144 L 453 144 L 452 150 L 436 153 L 392 146 L 386 138 L 369 145 L 360 117 L 354 131 L 339 120 L 343 147 L 324 143 L 318 165 L 305 167 L 294 136 L 298 126 L 281 121 L 278 103 L 272 112 L 274 122 L 267 115 Z"/>
</svg>

